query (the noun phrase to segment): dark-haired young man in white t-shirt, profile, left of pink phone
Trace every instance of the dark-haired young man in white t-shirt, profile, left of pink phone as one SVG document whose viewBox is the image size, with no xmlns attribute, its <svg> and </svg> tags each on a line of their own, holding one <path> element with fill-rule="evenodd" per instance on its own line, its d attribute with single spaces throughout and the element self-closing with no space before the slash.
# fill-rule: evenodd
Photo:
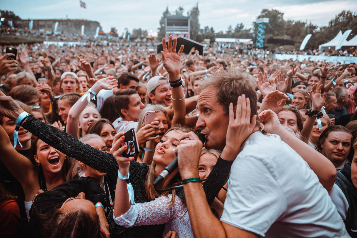
<svg viewBox="0 0 357 238">
<path fill-rule="evenodd" d="M 129 131 L 137 128 L 137 119 L 145 105 L 135 89 L 127 88 L 120 90 L 114 96 L 114 109 L 119 114 L 113 126 L 116 132 Z"/>
</svg>

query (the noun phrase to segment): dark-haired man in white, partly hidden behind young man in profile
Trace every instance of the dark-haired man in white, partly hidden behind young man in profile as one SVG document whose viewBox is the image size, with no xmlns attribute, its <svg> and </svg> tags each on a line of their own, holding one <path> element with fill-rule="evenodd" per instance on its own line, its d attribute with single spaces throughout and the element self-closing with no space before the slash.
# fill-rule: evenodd
<svg viewBox="0 0 357 238">
<path fill-rule="evenodd" d="M 115 95 L 116 92 L 119 92 L 119 90 L 125 89 L 125 88 L 132 88 L 136 89 L 137 85 L 139 84 L 139 79 L 135 77 L 134 75 L 131 75 L 129 73 L 123 73 L 120 75 L 118 79 L 118 87 L 113 88 L 111 90 L 105 90 L 102 89 L 98 92 L 96 95 L 97 98 L 97 110 L 100 111 L 104 101 L 110 97 Z"/>
</svg>

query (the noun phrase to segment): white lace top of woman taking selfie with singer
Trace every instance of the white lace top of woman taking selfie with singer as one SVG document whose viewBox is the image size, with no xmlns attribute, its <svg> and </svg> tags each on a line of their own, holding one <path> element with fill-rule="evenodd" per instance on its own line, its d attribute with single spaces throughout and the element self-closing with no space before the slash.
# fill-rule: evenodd
<svg viewBox="0 0 357 238">
<path fill-rule="evenodd" d="M 169 197 L 162 196 L 150 202 L 136 203 L 120 217 L 114 217 L 113 213 L 114 221 L 124 227 L 166 223 L 163 237 L 169 231 L 177 232 L 179 238 L 193 237 L 186 204 L 176 196 L 174 206 L 169 208 L 171 197 L 169 194 Z"/>
</svg>

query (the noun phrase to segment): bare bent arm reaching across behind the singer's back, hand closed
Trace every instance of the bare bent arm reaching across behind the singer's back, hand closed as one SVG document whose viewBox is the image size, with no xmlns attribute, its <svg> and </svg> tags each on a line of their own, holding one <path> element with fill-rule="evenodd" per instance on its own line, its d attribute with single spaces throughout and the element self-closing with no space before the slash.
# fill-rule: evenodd
<svg viewBox="0 0 357 238">
<path fill-rule="evenodd" d="M 280 125 L 278 116 L 273 111 L 263 111 L 259 115 L 259 120 L 265 122 L 264 130 L 266 132 L 279 135 L 282 141 L 287 143 L 307 162 L 327 191 L 332 188 L 336 179 L 336 168 L 330 160 L 285 130 Z"/>
</svg>

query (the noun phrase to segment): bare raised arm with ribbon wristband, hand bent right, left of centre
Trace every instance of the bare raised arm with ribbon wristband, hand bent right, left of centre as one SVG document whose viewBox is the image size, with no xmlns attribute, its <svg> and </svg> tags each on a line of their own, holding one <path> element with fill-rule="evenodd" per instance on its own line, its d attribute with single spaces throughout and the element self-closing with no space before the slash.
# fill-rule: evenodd
<svg viewBox="0 0 357 238">
<path fill-rule="evenodd" d="M 98 93 L 102 89 L 112 89 L 118 86 L 118 81 L 113 77 L 106 77 L 98 80 L 91 87 L 91 92 Z M 94 95 L 89 91 L 85 93 L 78 101 L 71 107 L 67 117 L 66 132 L 78 138 L 78 118 L 84 108 L 88 105 L 87 97 L 92 98 Z"/>
</svg>

